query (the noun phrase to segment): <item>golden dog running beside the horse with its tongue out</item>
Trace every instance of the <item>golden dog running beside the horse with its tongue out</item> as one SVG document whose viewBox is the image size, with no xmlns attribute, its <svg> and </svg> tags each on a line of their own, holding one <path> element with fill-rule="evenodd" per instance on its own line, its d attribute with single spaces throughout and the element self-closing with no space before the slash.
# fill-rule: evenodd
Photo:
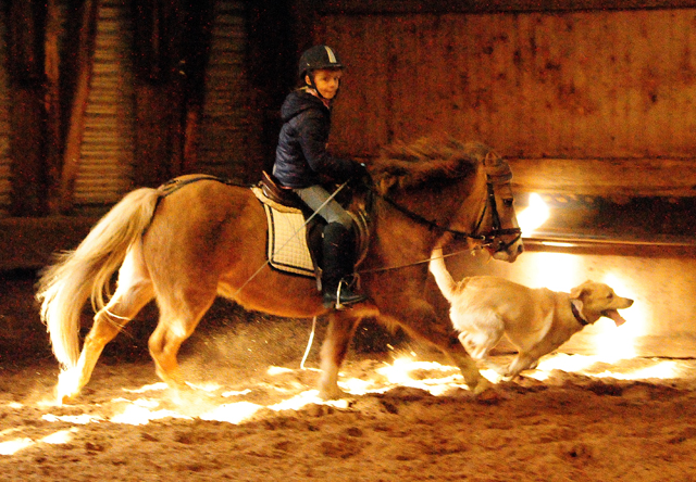
<svg viewBox="0 0 696 482">
<path fill-rule="evenodd" d="M 570 293 L 532 289 L 494 276 L 456 282 L 439 249 L 433 251 L 430 270 L 451 305 L 452 325 L 472 358 L 483 360 L 504 334 L 518 348 L 514 359 L 500 370 L 510 379 L 534 368 L 539 357 L 602 316 L 622 325 L 625 320 L 618 309 L 633 304 L 633 300 L 594 281 L 585 281 Z"/>
</svg>

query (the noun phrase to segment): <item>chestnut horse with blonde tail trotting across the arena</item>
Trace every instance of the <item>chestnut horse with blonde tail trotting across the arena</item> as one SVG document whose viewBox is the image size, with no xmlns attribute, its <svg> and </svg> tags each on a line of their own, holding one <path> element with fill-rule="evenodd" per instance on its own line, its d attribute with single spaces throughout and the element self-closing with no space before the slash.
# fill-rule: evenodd
<svg viewBox="0 0 696 482">
<path fill-rule="evenodd" d="M 75 250 L 54 255 L 37 283 L 41 320 L 60 363 L 59 403 L 78 396 L 105 344 L 152 300 L 159 320 L 148 348 L 156 372 L 176 393 L 187 390 L 177 353 L 217 296 L 281 317 L 328 315 L 320 352 L 323 399 L 346 396 L 338 370 L 365 318 L 430 342 L 472 391 L 487 389 L 447 312 L 424 292 L 435 248 L 464 240 L 507 262 L 522 253 L 508 163 L 480 142 L 421 139 L 384 148 L 368 170 L 372 182 L 350 208 L 362 207 L 370 219 L 357 267 L 369 300 L 344 310 L 323 306 L 315 280 L 268 266 L 266 217 L 250 186 L 187 175 L 174 180 L 176 189 L 167 183 L 125 194 Z M 88 299 L 96 315 L 80 351 Z"/>
</svg>

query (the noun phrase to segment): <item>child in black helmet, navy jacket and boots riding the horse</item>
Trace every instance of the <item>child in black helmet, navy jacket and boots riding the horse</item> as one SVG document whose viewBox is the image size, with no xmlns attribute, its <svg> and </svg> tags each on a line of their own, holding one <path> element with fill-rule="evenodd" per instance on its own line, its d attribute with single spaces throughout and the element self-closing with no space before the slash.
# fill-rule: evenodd
<svg viewBox="0 0 696 482">
<path fill-rule="evenodd" d="M 281 115 L 283 128 L 275 152 L 273 175 L 290 188 L 325 221 L 323 232 L 322 292 L 324 306 L 340 309 L 365 300 L 352 291 L 348 278 L 355 269 L 352 217 L 332 198 L 322 182 L 346 182 L 364 177 L 364 164 L 333 157 L 326 152 L 332 102 L 338 94 L 344 65 L 327 46 L 307 50 L 299 62 L 303 86 L 290 92 Z"/>
</svg>

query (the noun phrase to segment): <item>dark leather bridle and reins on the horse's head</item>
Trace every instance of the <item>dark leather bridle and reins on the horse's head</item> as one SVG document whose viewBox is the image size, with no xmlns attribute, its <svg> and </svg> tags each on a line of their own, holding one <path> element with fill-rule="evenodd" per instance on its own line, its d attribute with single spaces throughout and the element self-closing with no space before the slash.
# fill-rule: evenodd
<svg viewBox="0 0 696 482">
<path fill-rule="evenodd" d="M 520 240 L 520 238 L 522 237 L 522 230 L 520 228 L 506 228 L 502 229 L 501 224 L 500 224 L 500 215 L 498 214 L 498 206 L 496 203 L 496 195 L 495 195 L 495 188 L 494 185 L 499 185 L 499 183 L 504 183 L 506 181 L 509 181 L 511 179 L 511 175 L 510 176 L 489 176 L 487 175 L 486 178 L 486 203 L 483 206 L 483 210 L 481 211 L 481 217 L 478 218 L 478 221 L 476 223 L 476 227 L 474 228 L 473 232 L 465 232 L 465 231 L 460 231 L 458 229 L 451 229 L 447 226 L 440 226 L 437 223 L 427 219 L 423 216 L 421 216 L 418 213 L 412 212 L 411 210 L 403 207 L 402 205 L 398 204 L 396 201 L 394 201 L 391 198 L 387 196 L 387 195 L 382 195 L 377 192 L 374 192 L 371 190 L 371 192 L 375 195 L 377 195 L 378 198 L 383 199 L 384 201 L 386 201 L 391 207 L 394 207 L 395 210 L 397 210 L 398 212 L 400 212 L 401 214 L 403 214 L 405 216 L 408 216 L 409 218 L 413 219 L 415 223 L 420 224 L 420 225 L 424 225 L 427 226 L 431 230 L 433 231 L 439 231 L 439 232 L 447 232 L 452 234 L 452 237 L 456 240 L 464 240 L 464 239 L 471 239 L 474 241 L 478 241 L 480 242 L 480 246 L 481 248 L 489 248 L 494 253 L 500 252 L 500 251 L 505 251 L 508 248 L 510 248 L 512 244 L 514 244 L 515 242 L 518 242 Z M 495 180 L 494 180 L 495 179 Z M 483 224 L 483 220 L 486 216 L 486 210 L 490 208 L 490 218 L 492 218 L 492 228 L 490 230 L 486 231 L 486 232 L 478 232 L 481 229 L 481 225 Z M 502 236 L 511 236 L 511 234 L 517 234 L 517 237 L 510 241 L 510 242 L 505 242 L 500 239 L 500 237 Z"/>
</svg>

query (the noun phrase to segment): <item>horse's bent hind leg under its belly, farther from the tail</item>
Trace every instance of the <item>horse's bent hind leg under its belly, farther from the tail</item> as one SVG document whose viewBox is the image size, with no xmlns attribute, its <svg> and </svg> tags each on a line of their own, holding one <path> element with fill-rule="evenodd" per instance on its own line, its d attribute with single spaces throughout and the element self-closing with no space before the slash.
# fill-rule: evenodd
<svg viewBox="0 0 696 482">
<path fill-rule="evenodd" d="M 192 283 L 194 279 L 189 282 Z M 176 355 L 182 343 L 194 333 L 198 322 L 213 304 L 215 293 L 214 287 L 209 290 L 189 287 L 178 295 L 171 292 L 158 293 L 160 320 L 150 335 L 148 346 L 158 377 L 172 389 L 187 388 Z"/>
</svg>

